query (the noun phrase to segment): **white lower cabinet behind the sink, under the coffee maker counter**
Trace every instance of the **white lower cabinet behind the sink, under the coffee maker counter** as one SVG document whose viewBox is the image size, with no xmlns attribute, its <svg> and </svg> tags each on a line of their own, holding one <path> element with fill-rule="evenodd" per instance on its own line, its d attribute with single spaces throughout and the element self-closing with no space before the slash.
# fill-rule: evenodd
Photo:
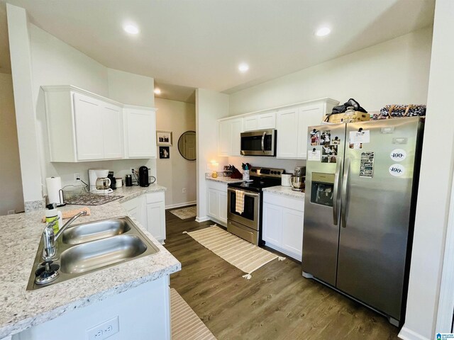
<svg viewBox="0 0 454 340">
<path fill-rule="evenodd" d="M 148 232 L 164 244 L 165 240 L 165 198 L 164 191 L 146 193 L 122 203 L 128 214 L 147 228 Z"/>
</svg>

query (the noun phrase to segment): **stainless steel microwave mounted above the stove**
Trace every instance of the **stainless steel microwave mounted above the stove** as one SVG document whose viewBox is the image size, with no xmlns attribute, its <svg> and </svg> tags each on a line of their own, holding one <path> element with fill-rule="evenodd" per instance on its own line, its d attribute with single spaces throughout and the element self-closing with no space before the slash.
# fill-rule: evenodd
<svg viewBox="0 0 454 340">
<path fill-rule="evenodd" d="M 241 154 L 276 156 L 276 130 L 241 132 Z"/>
</svg>

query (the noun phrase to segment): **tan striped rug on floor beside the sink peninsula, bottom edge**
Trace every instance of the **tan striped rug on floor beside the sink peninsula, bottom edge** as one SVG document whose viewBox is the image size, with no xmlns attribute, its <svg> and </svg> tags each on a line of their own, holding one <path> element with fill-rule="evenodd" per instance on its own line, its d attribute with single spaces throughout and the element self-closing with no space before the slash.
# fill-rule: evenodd
<svg viewBox="0 0 454 340">
<path fill-rule="evenodd" d="M 216 340 L 197 314 L 178 294 L 170 289 L 172 340 Z"/>
</svg>

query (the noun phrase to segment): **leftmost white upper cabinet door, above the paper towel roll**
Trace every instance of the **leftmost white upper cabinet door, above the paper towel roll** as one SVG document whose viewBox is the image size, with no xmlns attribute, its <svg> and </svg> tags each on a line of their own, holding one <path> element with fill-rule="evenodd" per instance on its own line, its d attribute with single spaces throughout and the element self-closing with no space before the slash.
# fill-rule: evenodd
<svg viewBox="0 0 454 340">
<path fill-rule="evenodd" d="M 103 115 L 101 102 L 74 94 L 77 160 L 104 159 Z"/>
</svg>

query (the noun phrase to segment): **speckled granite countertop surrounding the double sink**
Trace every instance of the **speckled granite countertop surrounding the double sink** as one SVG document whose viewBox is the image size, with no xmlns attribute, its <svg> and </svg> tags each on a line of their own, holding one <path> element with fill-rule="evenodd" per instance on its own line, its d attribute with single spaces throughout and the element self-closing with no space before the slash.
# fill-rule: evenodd
<svg viewBox="0 0 454 340">
<path fill-rule="evenodd" d="M 127 215 L 122 202 L 155 191 L 165 191 L 165 188 L 157 185 L 118 188 L 115 195 L 124 198 L 90 206 L 92 215 L 79 217 L 74 224 Z M 60 210 L 81 207 L 67 205 Z M 43 216 L 44 210 L 36 210 L 0 217 L 0 254 L 4 258 L 0 265 L 0 339 L 181 270 L 181 263 L 130 216 L 160 250 L 157 254 L 28 291 L 28 278 L 45 227 L 41 222 Z"/>
</svg>

